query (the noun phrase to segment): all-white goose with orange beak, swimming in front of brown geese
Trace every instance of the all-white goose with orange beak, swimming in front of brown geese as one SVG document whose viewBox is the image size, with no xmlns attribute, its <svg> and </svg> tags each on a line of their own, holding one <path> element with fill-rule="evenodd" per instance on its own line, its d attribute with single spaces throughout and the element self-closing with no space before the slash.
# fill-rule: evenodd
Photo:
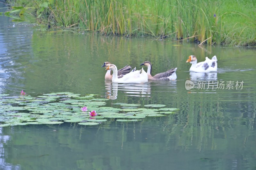
<svg viewBox="0 0 256 170">
<path fill-rule="evenodd" d="M 122 78 L 117 78 L 117 68 L 114 64 L 110 64 L 106 70 L 113 70 L 113 83 L 146 83 L 148 82 L 148 74 L 143 70 L 135 70 L 125 74 Z"/>
</svg>

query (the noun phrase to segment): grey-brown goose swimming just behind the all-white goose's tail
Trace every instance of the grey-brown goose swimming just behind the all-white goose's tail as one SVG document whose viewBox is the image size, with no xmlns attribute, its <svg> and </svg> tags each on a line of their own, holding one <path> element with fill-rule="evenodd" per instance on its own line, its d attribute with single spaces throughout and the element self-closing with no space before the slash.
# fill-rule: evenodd
<svg viewBox="0 0 256 170">
<path fill-rule="evenodd" d="M 145 61 L 140 65 L 145 65 L 148 67 L 148 80 L 176 80 L 176 70 L 177 68 L 172 68 L 171 70 L 165 71 L 163 73 L 158 73 L 155 76 L 151 76 L 152 72 L 152 64 L 149 61 Z"/>
</svg>

